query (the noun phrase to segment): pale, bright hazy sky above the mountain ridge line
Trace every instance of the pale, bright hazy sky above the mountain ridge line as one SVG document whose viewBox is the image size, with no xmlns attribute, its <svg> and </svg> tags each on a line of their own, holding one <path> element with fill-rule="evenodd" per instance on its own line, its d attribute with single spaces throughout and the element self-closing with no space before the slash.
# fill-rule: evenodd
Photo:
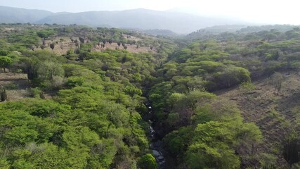
<svg viewBox="0 0 300 169">
<path fill-rule="evenodd" d="M 254 23 L 300 25 L 299 0 L 0 0 L 0 6 L 53 12 L 115 11 L 148 8 L 240 18 Z"/>
</svg>

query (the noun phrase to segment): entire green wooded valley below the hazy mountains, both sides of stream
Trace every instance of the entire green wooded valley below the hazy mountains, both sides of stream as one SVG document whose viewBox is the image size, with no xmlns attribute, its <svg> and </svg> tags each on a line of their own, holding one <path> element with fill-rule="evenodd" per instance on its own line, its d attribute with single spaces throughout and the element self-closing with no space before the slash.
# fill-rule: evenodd
<svg viewBox="0 0 300 169">
<path fill-rule="evenodd" d="M 299 66 L 289 25 L 2 24 L 0 168 L 299 168 Z"/>
</svg>

